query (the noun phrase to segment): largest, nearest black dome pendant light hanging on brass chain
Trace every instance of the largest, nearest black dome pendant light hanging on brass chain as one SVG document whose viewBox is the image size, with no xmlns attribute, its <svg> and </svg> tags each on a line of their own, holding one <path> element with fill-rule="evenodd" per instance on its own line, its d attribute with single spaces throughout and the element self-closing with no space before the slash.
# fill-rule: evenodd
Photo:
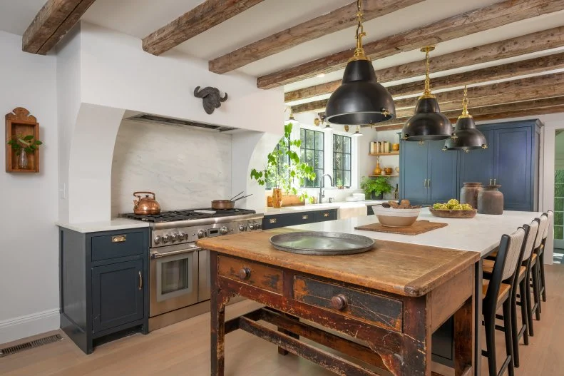
<svg viewBox="0 0 564 376">
<path fill-rule="evenodd" d="M 349 126 L 371 126 L 396 117 L 396 107 L 391 94 L 376 81 L 374 66 L 364 55 L 362 37 L 362 0 L 357 0 L 357 48 L 344 69 L 343 81 L 325 108 L 327 121 Z"/>
</svg>

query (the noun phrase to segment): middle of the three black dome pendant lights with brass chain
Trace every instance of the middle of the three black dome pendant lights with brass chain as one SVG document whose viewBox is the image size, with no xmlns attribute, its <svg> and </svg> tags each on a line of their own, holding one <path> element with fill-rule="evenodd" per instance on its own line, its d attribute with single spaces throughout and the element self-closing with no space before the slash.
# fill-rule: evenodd
<svg viewBox="0 0 564 376">
<path fill-rule="evenodd" d="M 439 101 L 431 93 L 429 52 L 434 49 L 434 46 L 421 49 L 425 53 L 425 91 L 417 101 L 414 116 L 409 118 L 401 130 L 401 138 L 406 141 L 444 140 L 452 136 L 451 121 L 441 113 Z"/>
</svg>

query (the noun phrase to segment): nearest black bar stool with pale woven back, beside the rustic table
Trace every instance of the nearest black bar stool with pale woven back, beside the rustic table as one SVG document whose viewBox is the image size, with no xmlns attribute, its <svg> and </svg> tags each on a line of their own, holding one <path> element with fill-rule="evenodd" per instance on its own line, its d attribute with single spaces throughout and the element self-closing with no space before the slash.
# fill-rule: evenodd
<svg viewBox="0 0 564 376">
<path fill-rule="evenodd" d="M 498 250 L 498 257 L 493 265 L 490 280 L 483 280 L 483 322 L 486 327 L 486 351 L 482 355 L 488 358 L 490 376 L 503 375 L 508 370 L 509 376 L 515 375 L 513 367 L 513 338 L 511 323 L 511 284 L 503 281 L 511 280 L 515 274 L 520 256 L 523 255 L 523 242 L 526 231 L 518 228 L 511 235 L 503 235 Z M 496 366 L 496 311 L 503 306 L 503 326 L 506 337 L 506 360 L 501 369 Z"/>
</svg>

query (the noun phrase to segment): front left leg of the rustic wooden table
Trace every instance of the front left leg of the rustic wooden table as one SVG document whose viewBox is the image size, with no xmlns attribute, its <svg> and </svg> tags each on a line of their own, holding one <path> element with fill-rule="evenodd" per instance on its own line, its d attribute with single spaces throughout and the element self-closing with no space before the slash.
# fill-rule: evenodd
<svg viewBox="0 0 564 376">
<path fill-rule="evenodd" d="M 225 368 L 225 300 L 217 285 L 217 253 L 210 252 L 211 264 L 211 360 L 212 376 L 223 376 Z"/>
</svg>

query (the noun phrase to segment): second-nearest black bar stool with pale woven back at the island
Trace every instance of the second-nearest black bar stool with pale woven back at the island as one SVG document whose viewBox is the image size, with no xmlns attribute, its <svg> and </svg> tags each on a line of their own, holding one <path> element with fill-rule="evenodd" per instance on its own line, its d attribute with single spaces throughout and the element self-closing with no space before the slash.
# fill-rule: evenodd
<svg viewBox="0 0 564 376">
<path fill-rule="evenodd" d="M 528 300 L 525 300 L 528 296 L 527 294 L 527 283 L 528 280 L 527 278 L 525 278 L 528 275 L 528 266 L 523 266 L 523 265 L 529 265 L 529 259 L 530 256 L 533 254 L 533 248 L 535 245 L 535 239 L 537 236 L 540 236 L 538 234 L 538 226 L 539 226 L 540 220 L 538 218 L 536 218 L 535 220 L 533 220 L 533 222 L 530 223 L 530 225 L 523 225 L 523 228 L 525 229 L 525 239 L 526 241 L 523 242 L 523 247 L 521 249 L 521 256 L 518 259 L 518 263 L 517 265 L 521 265 L 519 266 L 519 268 L 516 268 L 515 273 L 513 274 L 513 277 L 510 278 L 511 280 L 511 328 L 507 328 L 504 326 L 498 326 L 496 325 L 496 329 L 497 330 L 510 330 L 511 329 L 511 337 L 513 340 L 513 364 L 515 365 L 515 367 L 519 367 L 519 340 L 521 340 L 521 338 L 523 338 L 523 342 L 525 343 L 525 345 L 529 344 L 529 337 L 528 337 L 528 318 L 530 317 L 530 320 L 533 320 L 533 315 L 532 315 L 532 311 L 531 311 L 531 307 L 530 307 L 530 302 L 528 302 Z M 493 265 L 494 262 L 492 260 L 484 260 L 483 262 L 483 278 L 491 278 L 491 274 L 493 273 Z M 509 282 L 509 281 L 508 281 Z M 521 303 L 521 322 L 522 325 L 520 328 L 518 328 L 518 320 L 517 320 L 517 288 L 519 288 L 520 293 L 521 293 L 521 297 L 523 297 L 522 299 L 522 303 Z M 530 287 L 529 287 L 530 289 Z M 529 293 L 530 294 L 530 293 Z M 528 308 L 528 309 L 527 309 Z M 503 316 L 501 315 L 496 315 L 496 317 L 498 319 L 503 319 Z"/>
</svg>

